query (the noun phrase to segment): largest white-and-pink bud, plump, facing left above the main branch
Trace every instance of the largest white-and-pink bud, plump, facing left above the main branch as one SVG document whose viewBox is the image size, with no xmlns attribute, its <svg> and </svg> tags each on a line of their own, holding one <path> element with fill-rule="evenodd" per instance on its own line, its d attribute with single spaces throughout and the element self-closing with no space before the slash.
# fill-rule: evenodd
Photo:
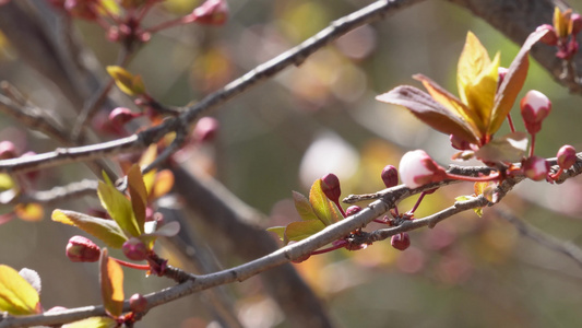
<svg viewBox="0 0 582 328">
<path fill-rule="evenodd" d="M 400 177 L 408 188 L 417 188 L 447 178 L 447 172 L 423 150 L 404 154 L 400 161 Z"/>
</svg>

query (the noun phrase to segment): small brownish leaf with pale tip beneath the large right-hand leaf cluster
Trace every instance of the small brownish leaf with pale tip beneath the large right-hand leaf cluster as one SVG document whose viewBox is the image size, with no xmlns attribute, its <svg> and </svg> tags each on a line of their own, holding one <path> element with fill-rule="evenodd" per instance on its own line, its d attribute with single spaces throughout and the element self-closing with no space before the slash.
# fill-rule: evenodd
<svg viewBox="0 0 582 328">
<path fill-rule="evenodd" d="M 475 155 L 480 161 L 489 163 L 520 162 L 525 156 L 526 149 L 527 134 L 518 131 L 495 138 L 476 151 Z"/>
</svg>

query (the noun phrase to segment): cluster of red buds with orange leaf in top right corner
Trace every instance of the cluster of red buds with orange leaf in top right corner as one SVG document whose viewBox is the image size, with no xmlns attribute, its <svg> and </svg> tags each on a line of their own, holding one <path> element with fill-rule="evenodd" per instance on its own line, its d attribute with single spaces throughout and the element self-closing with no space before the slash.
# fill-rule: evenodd
<svg viewBox="0 0 582 328">
<path fill-rule="evenodd" d="M 578 13 L 572 13 L 571 9 L 562 12 L 556 7 L 554 25 L 544 24 L 537 30 L 549 31 L 542 42 L 558 47 L 556 57 L 569 60 L 578 52 L 579 45 L 575 36 L 582 31 L 582 17 Z"/>
</svg>

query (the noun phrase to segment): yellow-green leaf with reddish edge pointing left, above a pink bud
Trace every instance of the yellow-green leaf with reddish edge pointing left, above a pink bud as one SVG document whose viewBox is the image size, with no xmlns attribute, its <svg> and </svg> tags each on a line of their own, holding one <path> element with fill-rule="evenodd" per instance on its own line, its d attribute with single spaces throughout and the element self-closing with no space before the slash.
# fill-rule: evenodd
<svg viewBox="0 0 582 328">
<path fill-rule="evenodd" d="M 52 211 L 52 221 L 76 226 L 84 232 L 99 238 L 107 246 L 121 248 L 128 239 L 119 225 L 112 220 L 94 218 L 87 214 L 55 210 Z"/>
</svg>

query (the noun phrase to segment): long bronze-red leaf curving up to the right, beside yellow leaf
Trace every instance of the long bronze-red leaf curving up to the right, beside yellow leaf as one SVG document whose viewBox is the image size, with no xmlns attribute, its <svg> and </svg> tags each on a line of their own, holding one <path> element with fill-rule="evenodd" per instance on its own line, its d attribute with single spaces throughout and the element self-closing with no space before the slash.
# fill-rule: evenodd
<svg viewBox="0 0 582 328">
<path fill-rule="evenodd" d="M 518 56 L 511 62 L 503 82 L 499 85 L 497 95 L 495 97 L 495 105 L 491 113 L 491 122 L 489 124 L 488 134 L 494 134 L 508 116 L 515 98 L 523 87 L 525 77 L 527 75 L 527 68 L 530 67 L 528 55 L 532 47 L 546 35 L 550 33 L 548 30 L 542 28 L 530 36 L 521 47 Z"/>
</svg>

